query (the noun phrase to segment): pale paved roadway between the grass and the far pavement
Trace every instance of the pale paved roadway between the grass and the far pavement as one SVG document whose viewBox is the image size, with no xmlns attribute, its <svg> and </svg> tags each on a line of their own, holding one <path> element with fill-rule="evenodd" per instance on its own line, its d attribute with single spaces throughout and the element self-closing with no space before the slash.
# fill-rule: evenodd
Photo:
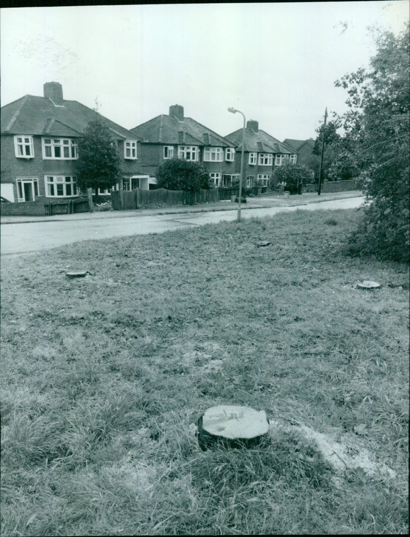
<svg viewBox="0 0 410 537">
<path fill-rule="evenodd" d="M 318 209 L 350 209 L 359 207 L 363 197 L 308 203 L 301 206 L 266 207 L 244 209 L 241 219 L 273 216 L 284 211 L 317 211 Z M 179 214 L 138 213 L 122 216 L 116 213 L 110 217 L 84 220 L 48 220 L 40 222 L 19 222 L 2 225 L 1 255 L 30 253 L 55 248 L 64 244 L 89 239 L 114 238 L 129 235 L 164 233 L 185 227 L 201 226 L 207 223 L 236 220 L 237 211 L 187 212 Z"/>
</svg>

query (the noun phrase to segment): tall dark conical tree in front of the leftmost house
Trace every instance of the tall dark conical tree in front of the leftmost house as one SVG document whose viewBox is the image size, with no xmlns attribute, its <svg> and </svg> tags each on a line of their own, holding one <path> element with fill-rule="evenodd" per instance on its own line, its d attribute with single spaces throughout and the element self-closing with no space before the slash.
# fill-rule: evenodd
<svg viewBox="0 0 410 537">
<path fill-rule="evenodd" d="M 78 140 L 77 185 L 111 188 L 121 178 L 120 158 L 114 140 L 101 116 L 88 122 Z"/>
</svg>

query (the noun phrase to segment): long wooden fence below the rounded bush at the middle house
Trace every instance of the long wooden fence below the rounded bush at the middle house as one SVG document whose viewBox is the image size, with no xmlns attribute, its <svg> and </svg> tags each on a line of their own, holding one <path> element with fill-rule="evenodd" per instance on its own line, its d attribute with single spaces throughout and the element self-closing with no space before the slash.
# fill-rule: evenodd
<svg viewBox="0 0 410 537">
<path fill-rule="evenodd" d="M 114 211 L 125 209 L 137 209 L 151 205 L 193 205 L 195 203 L 209 203 L 230 199 L 231 194 L 238 195 L 239 188 L 201 188 L 198 192 L 187 190 L 113 190 L 111 191 L 111 203 Z"/>
</svg>

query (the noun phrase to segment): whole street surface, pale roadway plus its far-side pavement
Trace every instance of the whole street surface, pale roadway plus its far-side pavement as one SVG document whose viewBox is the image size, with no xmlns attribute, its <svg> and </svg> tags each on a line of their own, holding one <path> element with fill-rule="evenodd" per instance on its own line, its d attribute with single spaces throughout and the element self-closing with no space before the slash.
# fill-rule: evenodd
<svg viewBox="0 0 410 537">
<path fill-rule="evenodd" d="M 294 196 L 288 200 L 266 197 L 249 198 L 243 205 L 241 219 L 273 216 L 283 211 L 305 209 L 341 209 L 359 207 L 364 198 L 356 193 L 333 195 L 329 199 L 318 195 Z M 164 233 L 185 227 L 202 226 L 207 223 L 234 221 L 237 218 L 237 205 L 231 202 L 208 204 L 202 208 L 174 207 L 145 209 L 138 211 L 115 211 L 107 213 L 80 213 L 51 217 L 2 217 L 1 255 L 39 252 L 64 244 L 89 239 Z M 214 207 L 215 205 L 215 207 Z M 215 210 L 219 208 L 219 210 Z M 221 210 L 222 208 L 222 210 Z"/>
</svg>

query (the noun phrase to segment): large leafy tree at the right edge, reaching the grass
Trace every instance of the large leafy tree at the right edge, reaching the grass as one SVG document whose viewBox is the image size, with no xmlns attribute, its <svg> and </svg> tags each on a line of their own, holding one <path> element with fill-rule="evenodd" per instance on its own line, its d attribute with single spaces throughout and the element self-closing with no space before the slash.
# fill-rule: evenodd
<svg viewBox="0 0 410 537">
<path fill-rule="evenodd" d="M 349 95 L 349 111 L 342 116 L 346 147 L 361 170 L 358 185 L 367 200 L 361 227 L 348 243 L 352 253 L 408 262 L 409 25 L 398 37 L 384 31 L 375 38 L 370 70 L 335 83 Z"/>
</svg>

